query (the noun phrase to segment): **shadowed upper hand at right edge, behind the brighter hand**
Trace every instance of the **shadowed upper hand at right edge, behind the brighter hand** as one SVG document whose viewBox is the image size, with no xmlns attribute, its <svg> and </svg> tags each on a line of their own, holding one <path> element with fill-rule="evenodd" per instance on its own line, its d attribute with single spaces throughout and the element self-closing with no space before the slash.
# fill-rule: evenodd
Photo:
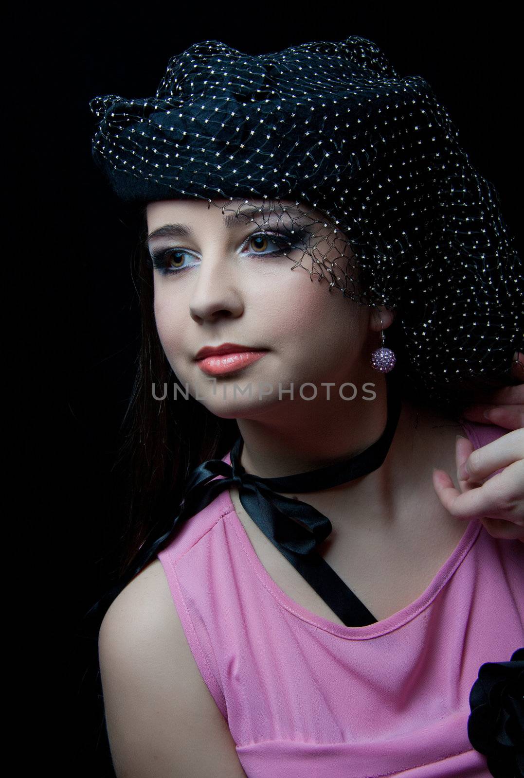
<svg viewBox="0 0 524 778">
<path fill-rule="evenodd" d="M 504 387 L 492 392 L 483 401 L 470 405 L 462 412 L 464 419 L 480 424 L 497 424 L 506 429 L 524 427 L 524 354 L 515 352 L 512 362 L 512 377 L 520 386 Z M 488 415 L 484 415 L 487 413 Z"/>
</svg>

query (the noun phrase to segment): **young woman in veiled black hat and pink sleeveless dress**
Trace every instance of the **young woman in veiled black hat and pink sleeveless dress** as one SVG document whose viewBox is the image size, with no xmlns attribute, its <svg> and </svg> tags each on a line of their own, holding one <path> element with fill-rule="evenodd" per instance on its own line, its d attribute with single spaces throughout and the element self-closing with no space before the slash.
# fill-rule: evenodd
<svg viewBox="0 0 524 778">
<path fill-rule="evenodd" d="M 92 107 L 145 205 L 131 442 L 182 497 L 100 629 L 117 774 L 517 769 L 468 714 L 480 665 L 520 661 L 522 430 L 459 419 L 512 383 L 519 265 L 431 89 L 358 37 L 206 41 Z"/>
</svg>

